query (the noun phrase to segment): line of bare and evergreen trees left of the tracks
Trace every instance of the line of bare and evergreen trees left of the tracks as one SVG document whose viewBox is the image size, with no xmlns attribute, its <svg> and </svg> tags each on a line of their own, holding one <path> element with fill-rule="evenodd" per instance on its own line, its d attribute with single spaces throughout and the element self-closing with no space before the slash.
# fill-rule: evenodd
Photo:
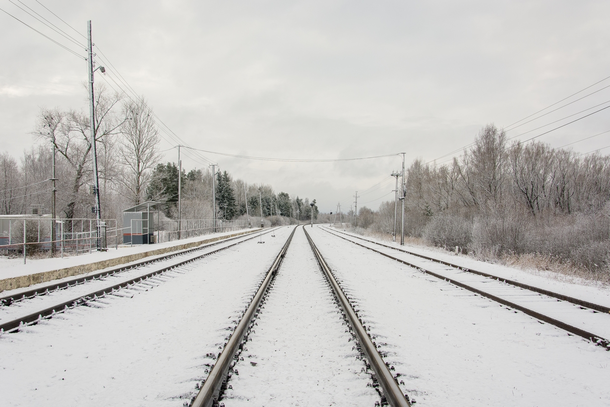
<svg viewBox="0 0 610 407">
<path fill-rule="evenodd" d="M 146 200 L 163 203 L 163 214 L 178 216 L 178 177 L 181 177 L 182 218 L 210 219 L 212 173 L 208 168 L 182 170 L 162 164 L 159 129 L 146 101 L 132 101 L 96 85 L 95 140 L 98 155 L 102 217 L 121 223 L 121 212 Z M 33 206 L 51 212 L 52 150 L 56 151 L 58 218 L 93 218 L 92 153 L 87 109 L 47 109 L 38 113 L 31 134 L 35 145 L 20 159 L 0 154 L 0 214 L 30 214 Z M 260 193 L 260 197 L 259 197 Z M 275 193 L 271 185 L 248 184 L 228 171 L 215 175 L 217 218 L 273 215 L 309 219 L 309 200 Z M 248 196 L 246 200 L 245 196 Z M 262 213 L 260 208 L 262 203 Z M 314 218 L 318 209 L 314 206 Z"/>
</svg>

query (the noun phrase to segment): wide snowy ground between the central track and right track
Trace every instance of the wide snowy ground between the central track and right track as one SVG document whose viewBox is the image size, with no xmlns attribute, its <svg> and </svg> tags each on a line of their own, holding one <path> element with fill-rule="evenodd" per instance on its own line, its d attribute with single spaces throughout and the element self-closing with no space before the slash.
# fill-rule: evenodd
<svg viewBox="0 0 610 407">
<path fill-rule="evenodd" d="M 417 405 L 610 405 L 609 351 L 326 231 L 310 233 Z"/>
</svg>

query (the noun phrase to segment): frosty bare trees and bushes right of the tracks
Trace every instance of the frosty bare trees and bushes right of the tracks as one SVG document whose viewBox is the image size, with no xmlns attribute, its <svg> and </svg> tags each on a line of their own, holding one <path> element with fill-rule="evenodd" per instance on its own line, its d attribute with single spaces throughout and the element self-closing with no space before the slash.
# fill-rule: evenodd
<svg viewBox="0 0 610 407">
<path fill-rule="evenodd" d="M 610 156 L 511 142 L 489 124 L 461 156 L 416 159 L 406 175 L 407 236 L 483 259 L 530 256 L 608 275 Z M 393 201 L 363 207 L 359 226 L 390 233 L 393 211 Z"/>
</svg>

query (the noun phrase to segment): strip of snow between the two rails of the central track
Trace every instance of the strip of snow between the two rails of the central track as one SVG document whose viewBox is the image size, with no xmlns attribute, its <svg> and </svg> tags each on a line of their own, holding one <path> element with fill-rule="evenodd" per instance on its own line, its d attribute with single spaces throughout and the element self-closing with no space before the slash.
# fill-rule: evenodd
<svg viewBox="0 0 610 407">
<path fill-rule="evenodd" d="M 303 229 L 298 228 L 223 403 L 231 406 L 373 406 L 351 335 Z M 256 366 L 254 366 L 256 364 Z"/>
</svg>

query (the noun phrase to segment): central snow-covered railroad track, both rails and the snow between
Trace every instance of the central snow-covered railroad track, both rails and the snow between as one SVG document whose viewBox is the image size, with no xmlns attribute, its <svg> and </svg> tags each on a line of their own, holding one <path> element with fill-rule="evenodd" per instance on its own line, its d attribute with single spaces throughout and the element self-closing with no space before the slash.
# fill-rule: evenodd
<svg viewBox="0 0 610 407">
<path fill-rule="evenodd" d="M 290 240 L 191 405 L 409 406 L 312 240 L 284 257 Z"/>
</svg>

